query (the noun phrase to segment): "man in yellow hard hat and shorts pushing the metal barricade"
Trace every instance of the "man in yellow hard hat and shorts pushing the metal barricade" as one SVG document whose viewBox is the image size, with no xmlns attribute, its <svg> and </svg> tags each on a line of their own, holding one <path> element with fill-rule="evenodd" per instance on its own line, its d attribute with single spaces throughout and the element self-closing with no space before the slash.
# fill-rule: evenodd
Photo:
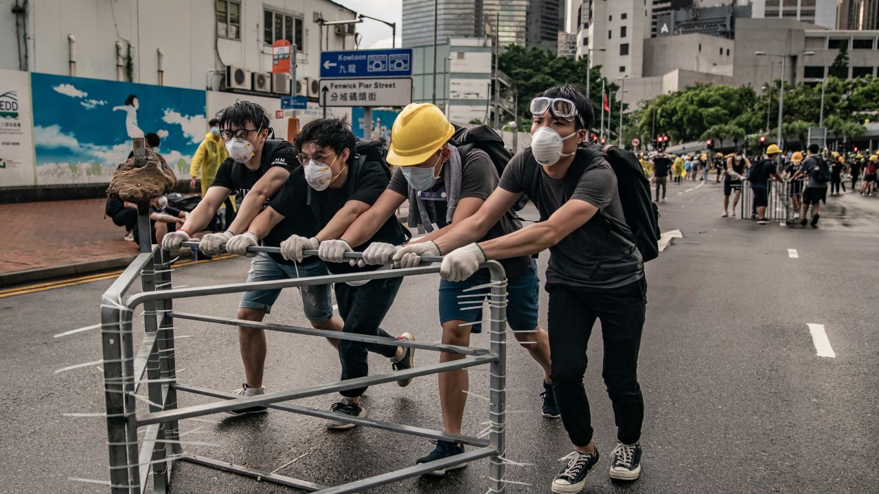
<svg viewBox="0 0 879 494">
<path fill-rule="evenodd" d="M 391 243 L 371 243 L 363 251 L 365 264 L 382 265 L 392 258 L 398 267 L 415 267 L 420 265 L 422 256 L 447 253 L 440 251 L 434 241 L 453 225 L 476 213 L 498 186 L 498 171 L 490 156 L 478 145 L 459 146 L 452 140 L 453 134 L 454 126 L 436 105 L 413 103 L 397 115 L 391 128 L 387 157 L 388 163 L 396 166 L 396 170 L 388 188 L 340 238 L 352 245 L 364 243 L 378 225 L 394 218 L 396 209 L 406 200 L 409 200 L 410 227 L 421 226 L 428 233 L 407 243 L 404 251 Z M 521 222 L 509 207 L 482 239 L 490 240 L 521 228 Z M 558 418 L 549 377 L 548 335 L 537 322 L 540 280 L 536 264 L 530 256 L 506 258 L 501 264 L 508 278 L 507 323 L 522 347 L 531 353 L 543 370 L 544 417 Z M 476 273 L 469 280 L 440 281 L 439 323 L 443 343 L 467 346 L 470 333 L 481 331 L 482 310 L 469 310 L 459 302 L 469 293 L 466 290 L 489 281 L 487 273 Z M 439 354 L 439 360 L 443 362 L 461 357 L 447 352 Z M 461 433 L 468 388 L 466 370 L 439 374 L 439 403 L 446 432 Z M 431 454 L 418 458 L 416 462 L 440 460 L 463 452 L 461 443 L 439 440 Z M 447 470 L 464 466 L 466 463 L 431 473 L 443 475 Z"/>
</svg>

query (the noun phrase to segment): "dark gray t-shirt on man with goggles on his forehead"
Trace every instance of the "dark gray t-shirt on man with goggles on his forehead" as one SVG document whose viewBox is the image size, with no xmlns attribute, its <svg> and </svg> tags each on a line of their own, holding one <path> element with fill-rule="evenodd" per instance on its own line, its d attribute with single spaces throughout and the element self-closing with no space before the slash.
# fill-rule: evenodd
<svg viewBox="0 0 879 494">
<path fill-rule="evenodd" d="M 587 164 L 568 198 L 565 179 L 549 178 L 543 167 L 530 156 L 529 150 L 513 156 L 500 179 L 502 189 L 526 193 L 541 210 L 542 217 L 555 213 L 568 200 L 583 200 L 598 207 L 599 212 L 612 216 L 615 224 L 628 231 L 617 192 L 616 175 L 607 161 L 601 159 Z M 589 158 L 581 149 L 575 159 Z M 635 243 L 616 228 L 611 228 L 599 214 L 550 247 L 549 253 L 547 284 L 616 288 L 640 280 L 644 275 L 641 253 Z"/>
</svg>

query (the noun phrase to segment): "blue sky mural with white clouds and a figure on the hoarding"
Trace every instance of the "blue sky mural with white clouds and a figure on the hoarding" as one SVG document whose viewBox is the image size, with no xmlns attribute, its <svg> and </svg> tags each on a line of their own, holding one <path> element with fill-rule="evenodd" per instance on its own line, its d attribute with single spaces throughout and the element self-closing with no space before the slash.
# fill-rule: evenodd
<svg viewBox="0 0 879 494">
<path fill-rule="evenodd" d="M 186 177 L 207 133 L 205 91 L 33 73 L 37 181 L 109 182 L 131 138 L 155 132 L 161 153 Z"/>
</svg>

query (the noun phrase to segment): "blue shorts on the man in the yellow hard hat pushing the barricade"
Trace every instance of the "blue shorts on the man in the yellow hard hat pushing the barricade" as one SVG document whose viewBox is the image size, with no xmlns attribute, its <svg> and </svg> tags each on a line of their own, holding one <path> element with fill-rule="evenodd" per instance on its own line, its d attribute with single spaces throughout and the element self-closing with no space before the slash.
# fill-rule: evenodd
<svg viewBox="0 0 879 494">
<path fill-rule="evenodd" d="M 483 320 L 483 308 L 467 309 L 461 301 L 477 301 L 477 297 L 458 298 L 458 295 L 486 293 L 489 288 L 479 288 L 465 292 L 467 288 L 490 283 L 488 276 L 475 274 L 467 280 L 452 282 L 439 281 L 439 323 L 464 321 L 476 323 Z M 522 270 L 506 284 L 506 322 L 512 331 L 533 331 L 537 327 L 537 309 L 540 300 L 541 281 L 537 277 L 537 262 L 532 259 L 531 268 Z M 473 307 L 475 304 L 468 304 Z M 482 332 L 482 323 L 470 326 L 470 332 Z"/>
</svg>

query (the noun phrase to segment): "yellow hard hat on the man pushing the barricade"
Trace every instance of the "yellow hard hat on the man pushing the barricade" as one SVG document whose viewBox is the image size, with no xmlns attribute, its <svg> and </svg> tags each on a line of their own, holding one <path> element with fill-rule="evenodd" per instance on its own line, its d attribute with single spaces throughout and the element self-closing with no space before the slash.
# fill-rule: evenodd
<svg viewBox="0 0 879 494">
<path fill-rule="evenodd" d="M 446 115 L 430 103 L 411 103 L 394 120 L 390 131 L 388 163 L 413 166 L 424 163 L 454 134 Z"/>
</svg>

